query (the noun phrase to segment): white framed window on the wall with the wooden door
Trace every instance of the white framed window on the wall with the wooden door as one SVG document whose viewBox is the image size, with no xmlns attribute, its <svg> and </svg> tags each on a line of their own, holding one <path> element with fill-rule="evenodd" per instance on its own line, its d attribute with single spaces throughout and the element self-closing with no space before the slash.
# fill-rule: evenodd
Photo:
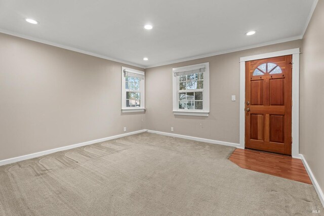
<svg viewBox="0 0 324 216">
<path fill-rule="evenodd" d="M 209 62 L 173 68 L 173 113 L 209 115 Z"/>
</svg>

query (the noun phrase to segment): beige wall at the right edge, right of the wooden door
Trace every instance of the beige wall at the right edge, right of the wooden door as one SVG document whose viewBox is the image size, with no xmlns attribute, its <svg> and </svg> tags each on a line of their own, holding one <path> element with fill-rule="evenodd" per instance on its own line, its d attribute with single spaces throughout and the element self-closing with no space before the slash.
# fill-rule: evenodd
<svg viewBox="0 0 324 216">
<path fill-rule="evenodd" d="M 300 152 L 324 190 L 324 1 L 317 3 L 303 38 Z"/>
</svg>

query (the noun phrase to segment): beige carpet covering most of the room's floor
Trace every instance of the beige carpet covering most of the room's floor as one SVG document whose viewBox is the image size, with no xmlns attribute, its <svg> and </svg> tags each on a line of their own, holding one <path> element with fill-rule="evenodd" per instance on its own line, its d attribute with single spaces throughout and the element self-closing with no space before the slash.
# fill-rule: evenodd
<svg viewBox="0 0 324 216">
<path fill-rule="evenodd" d="M 233 150 L 142 133 L 0 166 L 0 215 L 323 215 L 312 185 Z"/>
</svg>

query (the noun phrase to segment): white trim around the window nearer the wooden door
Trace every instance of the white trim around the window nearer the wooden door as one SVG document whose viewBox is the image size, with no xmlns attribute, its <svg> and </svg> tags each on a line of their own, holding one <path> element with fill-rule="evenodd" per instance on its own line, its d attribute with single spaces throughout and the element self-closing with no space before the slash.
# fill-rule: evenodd
<svg viewBox="0 0 324 216">
<path fill-rule="evenodd" d="M 205 68 L 204 72 L 204 89 L 203 89 L 203 110 L 189 110 L 179 109 L 178 94 L 179 94 L 179 81 L 178 76 L 175 73 L 184 72 L 189 70 L 195 70 Z M 209 104 L 209 62 L 200 63 L 195 65 L 188 65 L 184 67 L 177 67 L 172 69 L 172 82 L 173 82 L 173 114 L 174 115 L 191 115 L 191 116 L 209 116 L 210 104 Z"/>
</svg>

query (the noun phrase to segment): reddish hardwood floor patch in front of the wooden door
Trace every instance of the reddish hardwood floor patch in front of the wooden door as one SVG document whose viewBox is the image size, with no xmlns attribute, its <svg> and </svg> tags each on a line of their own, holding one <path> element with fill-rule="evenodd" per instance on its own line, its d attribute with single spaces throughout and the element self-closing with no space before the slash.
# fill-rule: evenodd
<svg viewBox="0 0 324 216">
<path fill-rule="evenodd" d="M 228 159 L 241 168 L 312 184 L 303 162 L 291 156 L 250 149 L 235 149 Z"/>
</svg>

